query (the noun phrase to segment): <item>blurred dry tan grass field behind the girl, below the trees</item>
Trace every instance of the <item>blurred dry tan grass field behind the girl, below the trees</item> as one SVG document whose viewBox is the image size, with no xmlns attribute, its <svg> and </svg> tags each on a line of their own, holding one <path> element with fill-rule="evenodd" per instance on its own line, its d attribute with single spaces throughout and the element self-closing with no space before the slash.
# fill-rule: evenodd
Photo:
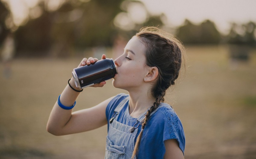
<svg viewBox="0 0 256 159">
<path fill-rule="evenodd" d="M 186 72 L 165 98 L 183 123 L 185 158 L 256 158 L 256 51 L 248 62 L 232 63 L 226 46 L 186 49 Z M 52 106 L 80 61 L 20 58 L 14 59 L 9 79 L 1 74 L 1 159 L 104 158 L 106 126 L 61 137 L 46 131 Z M 74 111 L 120 92 L 126 91 L 111 80 L 103 88 L 86 88 Z"/>
</svg>

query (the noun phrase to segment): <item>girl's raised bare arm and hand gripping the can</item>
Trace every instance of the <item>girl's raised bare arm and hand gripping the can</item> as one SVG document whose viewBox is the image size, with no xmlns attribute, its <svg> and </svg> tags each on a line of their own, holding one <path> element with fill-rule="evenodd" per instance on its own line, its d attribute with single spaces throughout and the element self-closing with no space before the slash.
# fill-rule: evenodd
<svg viewBox="0 0 256 159">
<path fill-rule="evenodd" d="M 102 55 L 102 59 L 104 58 L 106 58 L 106 56 Z M 97 60 L 98 59 L 96 58 L 89 58 L 88 60 L 87 58 L 84 58 L 78 67 L 85 64 L 90 64 L 91 62 L 95 62 Z M 94 87 L 102 87 L 105 83 L 105 81 L 101 82 L 94 85 Z M 70 85 L 73 88 L 76 88 L 73 77 L 70 80 Z M 78 90 L 78 88 L 76 89 Z M 61 93 L 60 102 L 64 106 L 72 106 L 79 94 L 80 92 L 72 90 L 70 86 L 67 85 L 64 91 Z M 72 109 L 64 110 L 59 107 L 58 103 L 56 102 L 48 119 L 47 131 L 54 135 L 66 135 L 99 128 L 107 124 L 105 110 L 111 99 L 113 99 L 113 97 L 101 102 L 95 107 L 73 113 Z"/>
</svg>

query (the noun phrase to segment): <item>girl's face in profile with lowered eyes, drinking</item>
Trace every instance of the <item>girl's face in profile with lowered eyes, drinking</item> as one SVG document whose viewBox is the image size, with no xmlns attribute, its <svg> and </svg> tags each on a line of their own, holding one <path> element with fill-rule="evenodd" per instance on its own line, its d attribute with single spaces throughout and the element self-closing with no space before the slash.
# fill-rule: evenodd
<svg viewBox="0 0 256 159">
<path fill-rule="evenodd" d="M 134 36 L 126 44 L 123 55 L 115 59 L 117 74 L 112 84 L 127 91 L 139 89 L 147 75 L 145 45 Z"/>
</svg>

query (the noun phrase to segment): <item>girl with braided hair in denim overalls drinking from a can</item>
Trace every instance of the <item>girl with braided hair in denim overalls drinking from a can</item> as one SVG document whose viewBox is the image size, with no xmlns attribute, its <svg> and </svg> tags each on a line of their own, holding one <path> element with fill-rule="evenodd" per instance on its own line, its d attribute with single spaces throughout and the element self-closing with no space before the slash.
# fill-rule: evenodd
<svg viewBox="0 0 256 159">
<path fill-rule="evenodd" d="M 179 75 L 182 52 L 183 46 L 172 35 L 155 27 L 142 28 L 114 61 L 117 74 L 112 84 L 129 94 L 118 94 L 72 113 L 82 90 L 71 78 L 52 109 L 47 131 L 66 135 L 108 124 L 105 158 L 184 158 L 182 124 L 172 107 L 162 103 Z M 78 67 L 96 61 L 84 58 Z"/>
</svg>

